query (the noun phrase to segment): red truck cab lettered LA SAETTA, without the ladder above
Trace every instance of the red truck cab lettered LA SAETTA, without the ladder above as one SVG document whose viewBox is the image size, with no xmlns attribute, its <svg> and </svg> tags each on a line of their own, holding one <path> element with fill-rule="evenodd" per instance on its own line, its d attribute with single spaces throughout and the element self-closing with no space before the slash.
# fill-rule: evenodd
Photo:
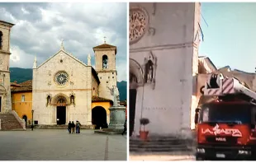
<svg viewBox="0 0 256 163">
<path fill-rule="evenodd" d="M 197 160 L 255 160 L 256 105 L 214 101 L 201 106 Z"/>
</svg>

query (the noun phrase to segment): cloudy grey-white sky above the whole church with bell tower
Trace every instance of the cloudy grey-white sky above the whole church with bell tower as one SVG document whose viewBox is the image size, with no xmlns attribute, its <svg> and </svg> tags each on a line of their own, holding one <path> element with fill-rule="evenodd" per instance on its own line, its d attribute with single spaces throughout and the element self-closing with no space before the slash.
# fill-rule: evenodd
<svg viewBox="0 0 256 163">
<path fill-rule="evenodd" d="M 92 48 L 104 43 L 117 47 L 118 81 L 127 81 L 126 3 L 1 3 L 0 20 L 15 26 L 11 33 L 11 68 L 32 68 L 64 49 L 87 63 Z"/>
</svg>

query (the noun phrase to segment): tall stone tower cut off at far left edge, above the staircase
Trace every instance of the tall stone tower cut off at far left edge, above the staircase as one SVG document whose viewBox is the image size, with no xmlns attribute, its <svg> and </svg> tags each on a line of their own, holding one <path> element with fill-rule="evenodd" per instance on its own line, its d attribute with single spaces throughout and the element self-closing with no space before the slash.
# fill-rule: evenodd
<svg viewBox="0 0 256 163">
<path fill-rule="evenodd" d="M 0 21 L 0 113 L 12 111 L 10 88 L 10 35 L 14 24 Z"/>
</svg>

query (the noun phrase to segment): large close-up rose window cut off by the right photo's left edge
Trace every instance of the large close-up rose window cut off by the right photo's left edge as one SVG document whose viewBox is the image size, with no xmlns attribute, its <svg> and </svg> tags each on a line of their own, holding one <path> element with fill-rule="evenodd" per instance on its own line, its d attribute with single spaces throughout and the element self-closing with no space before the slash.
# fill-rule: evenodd
<svg viewBox="0 0 256 163">
<path fill-rule="evenodd" d="M 147 13 L 141 8 L 134 8 L 130 10 L 129 14 L 129 40 L 130 44 L 140 40 L 145 34 L 148 27 Z"/>
</svg>

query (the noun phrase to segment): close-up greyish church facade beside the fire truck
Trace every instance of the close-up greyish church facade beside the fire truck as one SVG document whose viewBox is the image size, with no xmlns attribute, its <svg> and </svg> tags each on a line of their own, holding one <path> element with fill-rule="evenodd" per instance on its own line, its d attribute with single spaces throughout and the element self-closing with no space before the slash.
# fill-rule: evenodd
<svg viewBox="0 0 256 163">
<path fill-rule="evenodd" d="M 191 137 L 198 73 L 199 2 L 130 3 L 130 135 Z"/>
</svg>

